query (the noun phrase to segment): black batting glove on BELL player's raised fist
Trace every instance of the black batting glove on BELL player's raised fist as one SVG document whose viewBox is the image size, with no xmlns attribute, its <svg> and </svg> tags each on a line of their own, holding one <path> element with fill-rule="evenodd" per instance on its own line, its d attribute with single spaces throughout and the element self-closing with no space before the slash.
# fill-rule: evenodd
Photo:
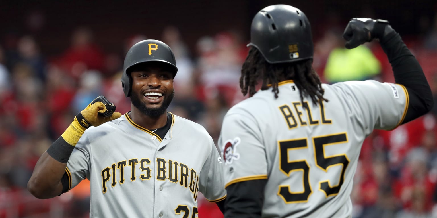
<svg viewBox="0 0 437 218">
<path fill-rule="evenodd" d="M 382 39 L 393 28 L 387 20 L 373 20 L 370 18 L 352 18 L 344 29 L 344 45 L 347 49 L 357 48 L 359 45 L 370 42 L 373 39 Z"/>
</svg>

